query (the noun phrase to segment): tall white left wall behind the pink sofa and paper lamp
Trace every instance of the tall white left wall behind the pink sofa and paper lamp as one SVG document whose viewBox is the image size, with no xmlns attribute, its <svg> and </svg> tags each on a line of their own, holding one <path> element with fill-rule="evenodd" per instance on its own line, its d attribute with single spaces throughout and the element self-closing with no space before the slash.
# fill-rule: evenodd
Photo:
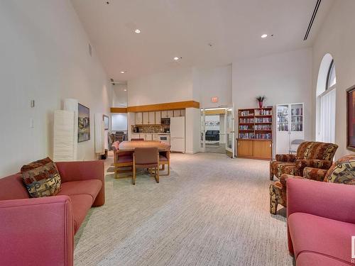
<svg viewBox="0 0 355 266">
<path fill-rule="evenodd" d="M 52 156 L 53 111 L 65 98 L 90 109 L 92 137 L 78 157 L 94 159 L 93 115 L 109 114 L 111 85 L 70 1 L 0 1 L 0 31 L 0 176 Z"/>
</svg>

